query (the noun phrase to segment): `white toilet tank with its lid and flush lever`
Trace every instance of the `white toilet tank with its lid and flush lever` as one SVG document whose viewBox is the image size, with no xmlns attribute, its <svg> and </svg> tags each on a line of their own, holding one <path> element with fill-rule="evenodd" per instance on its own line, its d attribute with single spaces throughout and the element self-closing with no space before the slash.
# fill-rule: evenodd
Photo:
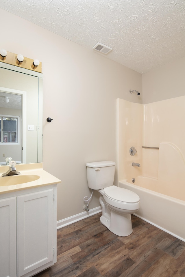
<svg viewBox="0 0 185 277">
<path fill-rule="evenodd" d="M 89 162 L 86 166 L 89 188 L 92 190 L 101 190 L 113 185 L 115 162 Z"/>
</svg>

